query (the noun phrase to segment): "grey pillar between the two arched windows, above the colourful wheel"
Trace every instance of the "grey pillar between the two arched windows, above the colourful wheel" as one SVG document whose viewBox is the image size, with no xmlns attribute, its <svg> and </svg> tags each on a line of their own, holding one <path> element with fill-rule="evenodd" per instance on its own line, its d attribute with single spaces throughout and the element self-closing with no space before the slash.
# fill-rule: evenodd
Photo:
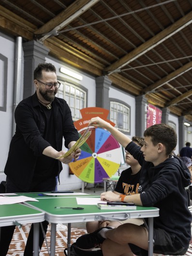
<svg viewBox="0 0 192 256">
<path fill-rule="evenodd" d="M 110 85 L 111 81 L 107 76 L 96 77 L 96 107 L 110 110 Z"/>
</svg>

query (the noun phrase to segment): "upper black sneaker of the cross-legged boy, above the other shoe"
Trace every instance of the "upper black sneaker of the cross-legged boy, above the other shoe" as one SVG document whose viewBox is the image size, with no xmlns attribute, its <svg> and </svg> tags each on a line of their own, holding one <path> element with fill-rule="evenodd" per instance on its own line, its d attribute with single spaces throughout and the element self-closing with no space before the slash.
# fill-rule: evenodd
<svg viewBox="0 0 192 256">
<path fill-rule="evenodd" d="M 110 227 L 104 227 L 111 229 Z M 90 234 L 84 234 L 81 237 L 79 237 L 76 241 L 76 245 L 84 250 L 87 249 L 93 249 L 95 248 L 98 244 L 103 243 L 105 238 L 103 238 L 98 232 L 103 229 L 99 228 L 96 231 L 90 233 Z"/>
</svg>

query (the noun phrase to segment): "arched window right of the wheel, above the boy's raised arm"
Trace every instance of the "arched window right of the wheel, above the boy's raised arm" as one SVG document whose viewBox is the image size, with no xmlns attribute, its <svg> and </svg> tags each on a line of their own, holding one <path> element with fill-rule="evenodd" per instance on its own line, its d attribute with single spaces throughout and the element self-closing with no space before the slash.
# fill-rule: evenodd
<svg viewBox="0 0 192 256">
<path fill-rule="evenodd" d="M 110 101 L 110 120 L 119 130 L 130 132 L 130 107 L 117 101 Z"/>
</svg>

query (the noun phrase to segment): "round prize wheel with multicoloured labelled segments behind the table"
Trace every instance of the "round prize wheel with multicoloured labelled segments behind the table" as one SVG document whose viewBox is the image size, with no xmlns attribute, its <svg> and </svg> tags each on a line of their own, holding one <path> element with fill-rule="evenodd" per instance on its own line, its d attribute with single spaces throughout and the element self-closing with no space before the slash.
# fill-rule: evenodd
<svg viewBox="0 0 192 256">
<path fill-rule="evenodd" d="M 109 131 L 92 128 L 91 135 L 81 146 L 82 154 L 69 163 L 73 173 L 84 182 L 101 183 L 111 177 L 121 164 L 121 147 Z M 80 137 L 83 130 L 79 133 Z"/>
</svg>

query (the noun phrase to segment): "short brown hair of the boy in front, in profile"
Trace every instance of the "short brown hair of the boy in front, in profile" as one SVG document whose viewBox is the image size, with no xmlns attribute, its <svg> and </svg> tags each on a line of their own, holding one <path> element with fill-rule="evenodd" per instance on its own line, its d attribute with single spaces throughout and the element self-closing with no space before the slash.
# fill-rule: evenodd
<svg viewBox="0 0 192 256">
<path fill-rule="evenodd" d="M 176 131 L 166 124 L 156 124 L 147 128 L 143 134 L 144 137 L 151 137 L 153 145 L 162 143 L 166 148 L 166 155 L 170 155 L 177 145 Z"/>
</svg>

